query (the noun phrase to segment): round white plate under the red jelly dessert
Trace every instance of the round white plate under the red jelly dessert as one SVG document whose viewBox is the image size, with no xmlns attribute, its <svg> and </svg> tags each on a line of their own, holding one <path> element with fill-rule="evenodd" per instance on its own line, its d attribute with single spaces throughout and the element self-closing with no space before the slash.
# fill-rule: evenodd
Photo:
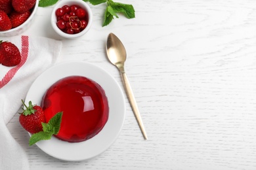
<svg viewBox="0 0 256 170">
<path fill-rule="evenodd" d="M 49 141 L 39 141 L 36 144 L 54 158 L 81 161 L 101 154 L 116 141 L 125 119 L 125 101 L 120 86 L 106 71 L 90 63 L 72 61 L 54 65 L 38 76 L 28 91 L 25 103 L 32 101 L 40 105 L 44 93 L 54 82 L 71 75 L 91 78 L 104 89 L 110 108 L 108 122 L 100 133 L 87 141 L 68 143 L 52 137 Z"/>
</svg>

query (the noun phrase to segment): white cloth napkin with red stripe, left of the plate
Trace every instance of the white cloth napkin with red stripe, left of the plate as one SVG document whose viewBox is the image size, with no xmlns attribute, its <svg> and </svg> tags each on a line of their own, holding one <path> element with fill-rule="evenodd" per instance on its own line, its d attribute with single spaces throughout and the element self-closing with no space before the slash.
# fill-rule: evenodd
<svg viewBox="0 0 256 170">
<path fill-rule="evenodd" d="M 0 65 L 0 169 L 29 169 L 24 148 L 15 141 L 7 124 L 18 112 L 32 82 L 56 62 L 62 42 L 45 37 L 16 36 L 3 41 L 15 44 L 22 56 L 15 67 Z"/>
</svg>

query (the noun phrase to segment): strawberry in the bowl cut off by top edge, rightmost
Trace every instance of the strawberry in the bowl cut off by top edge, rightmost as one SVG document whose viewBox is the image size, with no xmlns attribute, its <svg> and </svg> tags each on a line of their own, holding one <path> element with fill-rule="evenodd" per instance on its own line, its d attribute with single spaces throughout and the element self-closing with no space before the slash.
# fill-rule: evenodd
<svg viewBox="0 0 256 170">
<path fill-rule="evenodd" d="M 12 7 L 20 13 L 27 12 L 35 5 L 36 0 L 12 0 Z"/>
</svg>

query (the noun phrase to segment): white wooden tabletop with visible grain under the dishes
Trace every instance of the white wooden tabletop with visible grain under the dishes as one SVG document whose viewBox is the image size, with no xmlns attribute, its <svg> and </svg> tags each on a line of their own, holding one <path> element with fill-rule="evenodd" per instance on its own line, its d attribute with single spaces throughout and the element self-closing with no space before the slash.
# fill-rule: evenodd
<svg viewBox="0 0 256 170">
<path fill-rule="evenodd" d="M 133 4 L 102 27 L 105 5 L 90 7 L 84 37 L 62 39 L 58 62 L 88 61 L 121 78 L 106 58 L 106 38 L 125 45 L 125 69 L 148 133 L 144 141 L 125 95 L 125 124 L 116 142 L 86 161 L 61 161 L 28 146 L 18 114 L 8 124 L 31 169 L 256 169 L 256 1 L 119 0 Z M 53 7 L 39 8 L 24 35 L 60 40 Z"/>
</svg>

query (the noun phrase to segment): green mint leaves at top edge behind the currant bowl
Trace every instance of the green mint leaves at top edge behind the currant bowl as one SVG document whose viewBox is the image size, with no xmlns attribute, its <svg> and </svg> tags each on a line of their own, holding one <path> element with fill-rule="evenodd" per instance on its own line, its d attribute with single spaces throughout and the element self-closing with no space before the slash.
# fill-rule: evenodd
<svg viewBox="0 0 256 170">
<path fill-rule="evenodd" d="M 54 5 L 58 0 L 40 0 L 39 7 L 48 7 Z M 106 3 L 106 10 L 104 13 L 104 21 L 102 27 L 110 24 L 112 20 L 116 17 L 119 18 L 117 13 L 123 14 L 126 18 L 135 18 L 135 9 L 133 5 L 125 3 L 116 3 L 112 0 L 83 0 L 89 2 L 92 5 L 99 5 L 101 3 Z"/>
</svg>

